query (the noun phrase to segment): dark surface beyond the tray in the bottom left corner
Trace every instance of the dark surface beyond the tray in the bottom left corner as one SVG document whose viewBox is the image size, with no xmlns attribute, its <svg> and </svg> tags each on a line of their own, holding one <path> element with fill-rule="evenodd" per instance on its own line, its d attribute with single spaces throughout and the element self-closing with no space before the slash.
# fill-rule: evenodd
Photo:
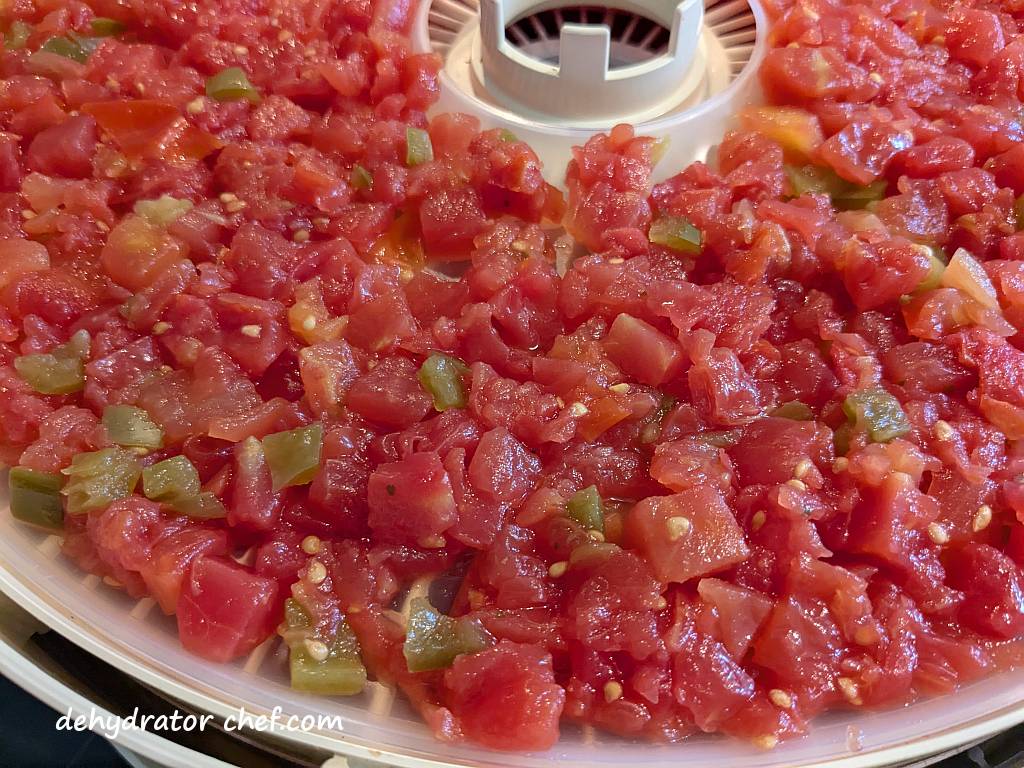
<svg viewBox="0 0 1024 768">
<path fill-rule="evenodd" d="M 0 677 L 0 766 L 125 768 L 110 742 L 91 731 L 58 731 L 56 712 Z"/>
</svg>

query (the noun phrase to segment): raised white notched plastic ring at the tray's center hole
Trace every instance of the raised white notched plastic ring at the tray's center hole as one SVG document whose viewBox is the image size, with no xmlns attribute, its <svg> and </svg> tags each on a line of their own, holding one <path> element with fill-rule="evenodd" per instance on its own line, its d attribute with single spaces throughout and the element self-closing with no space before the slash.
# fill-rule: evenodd
<svg viewBox="0 0 1024 768">
<path fill-rule="evenodd" d="M 481 0 L 475 75 L 506 109 L 550 125 L 639 122 L 680 103 L 699 80 L 694 67 L 703 22 L 702 0 L 605 0 L 603 7 L 631 11 L 671 31 L 668 50 L 647 61 L 609 69 L 611 32 L 603 25 L 566 24 L 557 65 L 526 55 L 505 37 L 509 22 L 565 7 L 564 2 Z"/>
</svg>

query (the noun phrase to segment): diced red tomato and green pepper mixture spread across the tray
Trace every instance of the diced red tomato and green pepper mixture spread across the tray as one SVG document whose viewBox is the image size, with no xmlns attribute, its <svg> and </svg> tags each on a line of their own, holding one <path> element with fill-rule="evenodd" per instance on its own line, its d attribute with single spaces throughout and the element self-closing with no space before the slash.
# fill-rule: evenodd
<svg viewBox="0 0 1024 768">
<path fill-rule="evenodd" d="M 1018 658 L 1020 8 L 774 2 L 714 164 L 617 126 L 565 196 L 426 117 L 414 8 L 4 11 L 13 513 L 195 653 L 280 632 L 499 750 L 770 748 Z"/>
</svg>

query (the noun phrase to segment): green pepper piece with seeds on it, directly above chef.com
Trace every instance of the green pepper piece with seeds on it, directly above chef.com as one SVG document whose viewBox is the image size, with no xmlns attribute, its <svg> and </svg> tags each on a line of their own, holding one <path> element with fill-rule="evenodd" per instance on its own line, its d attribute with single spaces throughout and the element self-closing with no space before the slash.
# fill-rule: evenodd
<svg viewBox="0 0 1024 768">
<path fill-rule="evenodd" d="M 347 623 L 339 624 L 332 641 L 324 643 L 327 656 L 322 660 L 313 657 L 307 640 L 324 641 L 311 637 L 309 614 L 294 598 L 285 601 L 285 623 L 293 688 L 328 696 L 351 696 L 362 690 L 367 669 L 359 658 L 355 633 Z"/>
</svg>

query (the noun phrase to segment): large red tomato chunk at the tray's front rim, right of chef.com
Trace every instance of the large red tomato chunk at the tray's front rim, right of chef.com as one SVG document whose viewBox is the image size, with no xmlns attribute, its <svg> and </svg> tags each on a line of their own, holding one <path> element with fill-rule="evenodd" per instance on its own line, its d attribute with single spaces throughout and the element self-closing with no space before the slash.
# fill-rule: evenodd
<svg viewBox="0 0 1024 768">
<path fill-rule="evenodd" d="M 456 658 L 444 673 L 447 705 L 464 733 L 495 750 L 547 750 L 558 740 L 565 691 L 551 655 L 502 640 Z"/>
</svg>

